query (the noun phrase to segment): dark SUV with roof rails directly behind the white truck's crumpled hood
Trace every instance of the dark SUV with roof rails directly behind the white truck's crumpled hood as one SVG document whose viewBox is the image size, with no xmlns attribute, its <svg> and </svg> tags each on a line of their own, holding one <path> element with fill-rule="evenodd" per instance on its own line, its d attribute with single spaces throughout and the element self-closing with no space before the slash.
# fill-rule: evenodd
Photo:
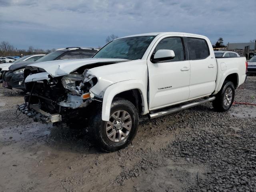
<svg viewBox="0 0 256 192">
<path fill-rule="evenodd" d="M 9 67 L 9 71 L 2 75 L 3 87 L 9 89 L 17 88 L 25 90 L 24 69 L 25 66 L 29 64 L 62 59 L 91 58 L 97 51 L 98 50 L 94 48 L 68 47 L 50 52 L 35 62 L 22 62 L 13 64 Z"/>
</svg>

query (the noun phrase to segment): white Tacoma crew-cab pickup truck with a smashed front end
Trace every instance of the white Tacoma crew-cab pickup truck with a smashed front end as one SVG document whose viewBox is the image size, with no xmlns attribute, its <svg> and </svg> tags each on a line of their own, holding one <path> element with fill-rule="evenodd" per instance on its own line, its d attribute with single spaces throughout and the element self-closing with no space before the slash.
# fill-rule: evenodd
<svg viewBox="0 0 256 192">
<path fill-rule="evenodd" d="M 90 59 L 26 66 L 19 110 L 44 123 L 89 124 L 102 150 L 124 148 L 139 115 L 156 118 L 204 102 L 232 106 L 246 58 L 215 58 L 210 40 L 179 32 L 138 34 L 106 44 Z"/>
</svg>

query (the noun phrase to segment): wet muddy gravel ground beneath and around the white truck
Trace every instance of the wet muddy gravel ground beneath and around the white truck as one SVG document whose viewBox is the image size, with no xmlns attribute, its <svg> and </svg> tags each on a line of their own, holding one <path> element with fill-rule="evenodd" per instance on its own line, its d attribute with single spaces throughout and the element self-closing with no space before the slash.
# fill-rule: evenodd
<svg viewBox="0 0 256 192">
<path fill-rule="evenodd" d="M 256 76 L 235 101 L 256 103 Z M 130 146 L 103 153 L 83 125 L 16 117 L 22 102 L 23 93 L 0 88 L 0 192 L 256 192 L 256 106 L 218 113 L 207 103 L 145 118 Z"/>
</svg>

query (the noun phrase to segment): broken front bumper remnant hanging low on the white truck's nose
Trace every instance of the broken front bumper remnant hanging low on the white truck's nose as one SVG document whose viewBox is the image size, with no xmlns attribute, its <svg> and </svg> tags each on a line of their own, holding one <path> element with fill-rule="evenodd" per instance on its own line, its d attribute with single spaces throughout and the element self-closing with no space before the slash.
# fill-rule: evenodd
<svg viewBox="0 0 256 192">
<path fill-rule="evenodd" d="M 26 116 L 33 118 L 35 122 L 41 123 L 55 123 L 60 122 L 61 115 L 60 114 L 50 114 L 39 108 L 38 104 L 30 104 L 29 107 L 26 104 L 18 107 L 18 110 L 25 114 Z"/>
</svg>

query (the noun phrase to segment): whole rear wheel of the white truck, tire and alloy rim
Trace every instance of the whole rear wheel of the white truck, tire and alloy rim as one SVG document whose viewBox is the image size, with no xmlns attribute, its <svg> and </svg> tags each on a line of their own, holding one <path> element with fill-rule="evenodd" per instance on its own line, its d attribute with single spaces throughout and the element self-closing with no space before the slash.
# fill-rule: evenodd
<svg viewBox="0 0 256 192">
<path fill-rule="evenodd" d="M 216 95 L 216 99 L 212 102 L 216 111 L 224 112 L 230 109 L 235 98 L 235 87 L 230 81 L 223 83 L 222 89 Z"/>
</svg>

